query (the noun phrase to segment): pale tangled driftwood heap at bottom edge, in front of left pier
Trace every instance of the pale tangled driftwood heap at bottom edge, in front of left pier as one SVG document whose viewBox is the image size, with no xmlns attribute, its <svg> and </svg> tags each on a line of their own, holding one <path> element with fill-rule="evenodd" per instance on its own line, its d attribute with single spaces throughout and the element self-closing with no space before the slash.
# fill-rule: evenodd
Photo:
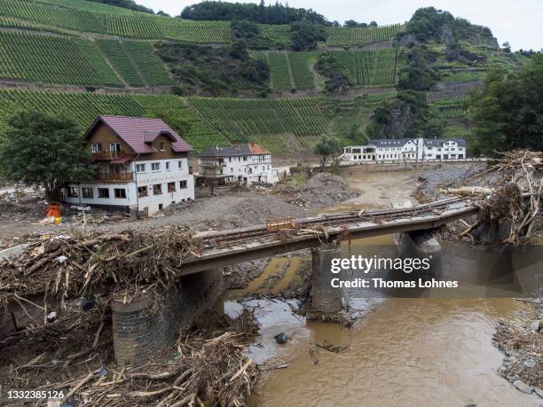
<svg viewBox="0 0 543 407">
<path fill-rule="evenodd" d="M 90 372 L 51 388 L 69 388 L 66 398 L 76 394 L 93 406 L 245 405 L 258 372 L 241 352 L 242 335 L 228 332 L 211 340 L 179 342 L 169 363 L 112 368 L 107 376 Z"/>
</svg>

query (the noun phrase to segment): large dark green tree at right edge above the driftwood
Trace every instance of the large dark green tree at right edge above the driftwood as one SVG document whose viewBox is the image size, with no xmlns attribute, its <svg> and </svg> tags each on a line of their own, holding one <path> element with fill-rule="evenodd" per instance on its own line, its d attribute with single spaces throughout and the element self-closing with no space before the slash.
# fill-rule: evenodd
<svg viewBox="0 0 543 407">
<path fill-rule="evenodd" d="M 472 102 L 470 116 L 482 153 L 543 150 L 543 55 L 534 55 L 520 72 L 488 74 Z"/>
</svg>

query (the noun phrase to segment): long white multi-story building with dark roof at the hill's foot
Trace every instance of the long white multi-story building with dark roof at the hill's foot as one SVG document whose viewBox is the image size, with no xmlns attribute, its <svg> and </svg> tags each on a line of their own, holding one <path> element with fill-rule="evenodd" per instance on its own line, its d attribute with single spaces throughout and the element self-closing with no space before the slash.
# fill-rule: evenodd
<svg viewBox="0 0 543 407">
<path fill-rule="evenodd" d="M 466 141 L 462 138 L 379 138 L 367 145 L 343 147 L 341 160 L 385 162 L 405 160 L 463 160 Z"/>
</svg>

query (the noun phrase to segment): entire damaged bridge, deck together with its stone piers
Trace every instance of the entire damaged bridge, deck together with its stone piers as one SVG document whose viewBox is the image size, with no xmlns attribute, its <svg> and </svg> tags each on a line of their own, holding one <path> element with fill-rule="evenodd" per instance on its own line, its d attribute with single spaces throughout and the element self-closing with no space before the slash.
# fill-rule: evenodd
<svg viewBox="0 0 543 407">
<path fill-rule="evenodd" d="M 177 269 L 180 278 L 177 286 L 164 288 L 159 298 L 144 297 L 128 302 L 112 299 L 117 363 L 145 364 L 156 350 L 177 340 L 178 330 L 218 298 L 222 266 L 312 247 L 312 303 L 308 317 L 317 315 L 313 319 L 318 319 L 324 315 L 328 316 L 327 320 L 334 320 L 342 309 L 342 298 L 341 292 L 330 285 L 330 262 L 341 256 L 339 242 L 432 230 L 477 215 L 478 211 L 479 207 L 456 197 L 415 207 L 321 214 L 295 220 L 283 228 L 261 225 L 198 233 L 193 238 L 201 244 L 201 251 L 182 259 Z M 113 291 L 113 288 L 102 287 L 101 291 Z M 41 297 L 43 299 L 43 293 Z M 28 298 L 40 302 L 40 294 L 34 293 Z M 155 306 L 157 301 L 161 303 L 159 307 Z M 39 315 L 43 308 L 38 307 Z M 51 308 L 46 306 L 45 309 Z M 11 310 L 13 321 L 17 313 L 28 315 L 26 309 L 17 309 L 17 304 L 12 304 Z"/>
</svg>

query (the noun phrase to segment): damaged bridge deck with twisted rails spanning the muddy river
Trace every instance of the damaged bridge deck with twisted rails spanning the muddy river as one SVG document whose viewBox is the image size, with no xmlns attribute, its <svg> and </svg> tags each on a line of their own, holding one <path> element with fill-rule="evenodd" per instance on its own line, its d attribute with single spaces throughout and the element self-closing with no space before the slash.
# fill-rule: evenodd
<svg viewBox="0 0 543 407">
<path fill-rule="evenodd" d="M 479 208 L 461 198 L 438 200 L 416 207 L 323 214 L 298 219 L 294 228 L 268 231 L 265 226 L 206 231 L 195 239 L 203 243 L 198 257 L 185 259 L 180 275 L 247 262 L 249 260 L 318 247 L 326 242 L 434 229 L 476 215 Z"/>
</svg>

